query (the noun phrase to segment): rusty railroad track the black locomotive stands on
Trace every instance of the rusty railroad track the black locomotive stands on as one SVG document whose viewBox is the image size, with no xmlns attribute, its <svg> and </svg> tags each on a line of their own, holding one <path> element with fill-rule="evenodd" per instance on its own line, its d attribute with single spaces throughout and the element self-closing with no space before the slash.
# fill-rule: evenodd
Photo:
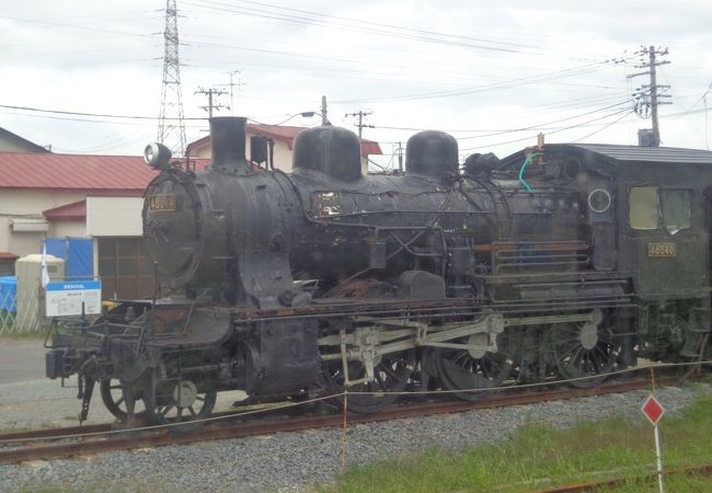
<svg viewBox="0 0 712 493">
<path fill-rule="evenodd" d="M 679 381 L 679 377 L 665 377 L 658 383 L 669 385 Z M 601 395 L 640 390 L 650 386 L 648 379 L 617 381 L 592 389 L 553 389 L 544 391 L 517 391 L 483 397 L 476 402 L 448 401 L 393 406 L 375 414 L 341 413 L 329 415 L 303 415 L 289 419 L 261 419 L 244 421 L 240 413 L 229 413 L 216 417 L 210 424 L 196 428 L 196 422 L 190 423 L 190 429 L 179 426 L 158 426 L 143 428 L 113 429 L 113 425 L 92 425 L 0 435 L 0 446 L 19 445 L 11 449 L 0 449 L 0 463 L 18 463 L 30 460 L 47 460 L 73 456 L 88 456 L 103 451 L 130 450 L 137 448 L 163 447 L 169 445 L 193 444 L 228 438 L 244 438 L 256 435 L 269 435 L 279 432 L 343 427 L 348 425 L 436 414 L 461 413 L 478 409 L 503 408 L 538 402 L 574 399 L 588 395 Z M 279 411 L 285 408 L 274 408 Z M 225 419 L 222 419 L 225 417 Z M 70 442 L 71 440 L 71 442 Z M 47 445 L 48 442 L 56 442 Z"/>
</svg>

